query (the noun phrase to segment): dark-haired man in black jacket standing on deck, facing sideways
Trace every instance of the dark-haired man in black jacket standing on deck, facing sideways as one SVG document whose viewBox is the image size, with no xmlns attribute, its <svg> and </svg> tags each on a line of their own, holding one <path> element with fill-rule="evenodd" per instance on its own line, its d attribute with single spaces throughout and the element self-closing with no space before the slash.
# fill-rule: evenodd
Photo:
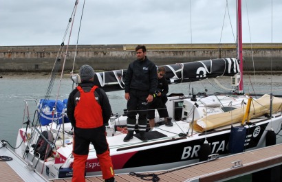
<svg viewBox="0 0 282 182">
<path fill-rule="evenodd" d="M 158 85 L 157 67 L 146 56 L 146 47 L 138 45 L 135 47 L 137 60 L 129 64 L 124 81 L 125 95 L 127 100 L 127 136 L 123 141 L 127 142 L 133 138 L 138 114 L 138 129 L 142 141 L 148 141 L 145 136 L 147 128 L 148 103 L 152 102 L 153 94 Z"/>
</svg>

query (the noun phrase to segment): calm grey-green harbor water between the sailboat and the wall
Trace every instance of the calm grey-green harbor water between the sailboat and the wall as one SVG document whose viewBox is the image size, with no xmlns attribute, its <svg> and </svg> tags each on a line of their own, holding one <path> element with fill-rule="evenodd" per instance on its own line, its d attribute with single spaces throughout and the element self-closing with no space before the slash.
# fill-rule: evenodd
<svg viewBox="0 0 282 182">
<path fill-rule="evenodd" d="M 253 77 L 252 77 L 253 78 Z M 282 82 L 280 76 L 257 76 L 255 82 L 250 78 L 244 78 L 246 93 L 268 93 L 282 95 Z M 170 93 L 203 93 L 207 90 L 208 94 L 215 92 L 227 92 L 224 87 L 230 88 L 231 78 L 225 77 L 218 79 L 221 85 L 216 84 L 213 79 L 202 80 L 199 82 L 171 84 L 169 86 Z M 23 100 L 35 98 L 40 100 L 45 97 L 48 78 L 25 78 L 25 77 L 8 77 L 1 78 L 0 92 L 0 122 L 1 133 L 0 139 L 6 139 L 14 146 L 17 137 L 17 130 L 22 126 L 25 118 L 23 118 L 24 102 Z M 54 84 L 50 98 L 55 99 L 59 85 Z M 58 99 L 65 99 L 72 91 L 72 81 L 64 78 L 61 82 Z M 111 103 L 113 113 L 123 113 L 127 102 L 124 99 L 124 91 L 114 91 L 107 93 Z M 31 111 L 34 112 L 34 111 Z"/>
</svg>

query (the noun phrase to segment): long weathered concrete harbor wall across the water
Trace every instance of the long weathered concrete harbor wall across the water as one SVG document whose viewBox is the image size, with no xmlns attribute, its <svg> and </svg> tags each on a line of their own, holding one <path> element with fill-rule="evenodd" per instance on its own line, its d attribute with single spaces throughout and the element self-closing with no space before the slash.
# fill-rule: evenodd
<svg viewBox="0 0 282 182">
<path fill-rule="evenodd" d="M 67 46 L 2 46 L 1 72 L 51 71 L 58 56 L 65 70 L 79 69 L 88 64 L 96 70 L 127 69 L 135 60 L 136 45 L 69 45 Z M 236 57 L 235 44 L 167 44 L 146 45 L 147 56 L 155 65 L 173 65 L 181 62 L 212 58 Z M 74 63 L 74 56 L 76 60 Z M 252 61 L 254 60 L 254 62 Z M 243 44 L 243 69 L 252 71 L 282 71 L 282 43 Z M 272 67 L 271 67 L 272 65 Z"/>
</svg>

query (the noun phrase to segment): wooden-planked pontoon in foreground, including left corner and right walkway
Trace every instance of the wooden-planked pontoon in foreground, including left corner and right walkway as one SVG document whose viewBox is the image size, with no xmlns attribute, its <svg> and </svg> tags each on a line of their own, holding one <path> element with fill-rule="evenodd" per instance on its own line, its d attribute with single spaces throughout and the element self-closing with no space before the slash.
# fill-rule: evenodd
<svg viewBox="0 0 282 182">
<path fill-rule="evenodd" d="M 12 161 L 0 162 L 0 180 L 1 181 L 45 181 L 38 172 L 30 171 L 26 168 L 27 164 L 19 157 L 14 155 L 7 148 L 0 148 L 0 156 L 12 157 Z M 226 181 L 246 174 L 252 174 L 261 170 L 273 167 L 280 167 L 278 174 L 280 181 L 282 179 L 282 144 L 250 150 L 235 155 L 220 157 L 211 161 L 204 161 L 195 165 L 175 168 L 168 171 L 138 173 L 144 179 L 152 179 L 149 174 L 154 174 L 160 182 L 177 181 Z M 276 169 L 277 171 L 277 169 Z M 145 177 L 149 175 L 148 177 Z M 129 174 L 116 175 L 117 182 L 140 182 L 145 181 L 140 177 Z M 56 179 L 52 182 L 66 182 L 72 179 Z M 51 182 L 50 181 L 50 182 Z M 87 177 L 86 181 L 101 182 L 102 177 Z"/>
</svg>

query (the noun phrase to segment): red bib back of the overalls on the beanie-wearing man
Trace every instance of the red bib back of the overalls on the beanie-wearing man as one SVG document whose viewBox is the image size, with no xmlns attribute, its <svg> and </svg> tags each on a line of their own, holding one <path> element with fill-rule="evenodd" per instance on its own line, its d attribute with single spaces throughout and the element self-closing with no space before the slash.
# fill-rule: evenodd
<svg viewBox="0 0 282 182">
<path fill-rule="evenodd" d="M 97 86 L 90 91 L 84 91 L 80 86 L 76 87 L 80 92 L 79 98 L 75 98 L 76 107 L 74 117 L 78 128 L 98 128 L 103 125 L 102 108 L 99 97 L 95 95 Z"/>
</svg>

